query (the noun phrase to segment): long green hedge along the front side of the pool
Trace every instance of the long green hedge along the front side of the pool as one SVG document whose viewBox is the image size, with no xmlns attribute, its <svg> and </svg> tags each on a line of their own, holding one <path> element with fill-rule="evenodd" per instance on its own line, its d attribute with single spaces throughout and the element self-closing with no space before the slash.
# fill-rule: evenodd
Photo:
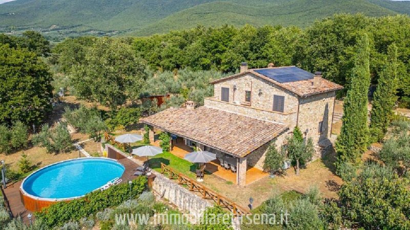
<svg viewBox="0 0 410 230">
<path fill-rule="evenodd" d="M 146 188 L 146 183 L 146 177 L 138 177 L 133 180 L 131 184 L 132 197 L 138 197 Z M 78 221 L 85 216 L 117 206 L 129 197 L 128 183 L 121 183 L 104 191 L 91 192 L 85 197 L 70 202 L 52 204 L 35 215 L 37 219 L 44 221 L 47 227 L 52 228 L 61 226 L 68 221 Z"/>
</svg>

